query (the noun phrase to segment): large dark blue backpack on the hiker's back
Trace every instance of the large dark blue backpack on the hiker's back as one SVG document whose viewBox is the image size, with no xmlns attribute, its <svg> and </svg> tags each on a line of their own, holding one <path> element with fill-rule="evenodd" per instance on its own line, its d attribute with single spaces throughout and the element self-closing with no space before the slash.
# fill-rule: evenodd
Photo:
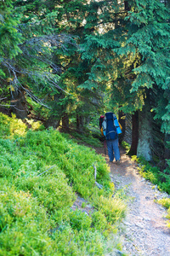
<svg viewBox="0 0 170 256">
<path fill-rule="evenodd" d="M 115 140 L 118 137 L 116 125 L 114 124 L 114 116 L 112 112 L 105 113 L 102 127 L 106 140 Z"/>
</svg>

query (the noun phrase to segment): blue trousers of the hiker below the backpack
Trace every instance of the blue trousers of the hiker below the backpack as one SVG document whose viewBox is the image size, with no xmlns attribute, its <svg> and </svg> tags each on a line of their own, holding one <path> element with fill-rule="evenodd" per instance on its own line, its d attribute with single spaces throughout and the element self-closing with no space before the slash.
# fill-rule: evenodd
<svg viewBox="0 0 170 256">
<path fill-rule="evenodd" d="M 114 160 L 114 157 L 116 160 L 120 160 L 118 138 L 116 138 L 115 140 L 107 140 L 106 142 L 110 161 L 112 162 Z"/>
</svg>

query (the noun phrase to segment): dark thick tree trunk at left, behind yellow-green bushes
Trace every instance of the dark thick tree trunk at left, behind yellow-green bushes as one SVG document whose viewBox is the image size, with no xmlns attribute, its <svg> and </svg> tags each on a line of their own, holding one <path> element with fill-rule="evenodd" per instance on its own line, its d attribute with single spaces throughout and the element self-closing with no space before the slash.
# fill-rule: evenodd
<svg viewBox="0 0 170 256">
<path fill-rule="evenodd" d="M 28 109 L 24 90 L 13 91 L 10 104 L 12 113 L 15 113 L 18 119 L 26 119 Z"/>
</svg>

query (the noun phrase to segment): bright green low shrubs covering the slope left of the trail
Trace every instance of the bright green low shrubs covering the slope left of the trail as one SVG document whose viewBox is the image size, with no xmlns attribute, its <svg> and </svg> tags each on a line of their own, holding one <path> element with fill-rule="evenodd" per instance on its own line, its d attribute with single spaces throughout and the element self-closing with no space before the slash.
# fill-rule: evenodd
<svg viewBox="0 0 170 256">
<path fill-rule="evenodd" d="M 20 119 L 3 114 L 0 124 L 0 255 L 104 255 L 121 249 L 116 230 L 126 206 L 112 197 L 105 160 L 52 128 L 28 131 Z M 93 165 L 104 189 L 94 184 Z M 89 215 L 71 210 L 75 192 L 93 206 Z"/>
</svg>

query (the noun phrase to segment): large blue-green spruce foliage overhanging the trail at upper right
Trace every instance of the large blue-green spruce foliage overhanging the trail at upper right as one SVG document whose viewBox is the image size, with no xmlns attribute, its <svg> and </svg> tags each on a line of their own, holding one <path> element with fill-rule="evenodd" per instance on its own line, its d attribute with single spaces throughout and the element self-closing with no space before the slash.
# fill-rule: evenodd
<svg viewBox="0 0 170 256">
<path fill-rule="evenodd" d="M 103 8 L 107 3 L 109 10 Z M 82 87 L 88 90 L 103 88 L 107 98 L 111 99 L 108 106 L 121 106 L 125 113 L 135 113 L 148 102 L 150 110 L 156 113 L 157 122 L 163 121 L 161 131 L 168 132 L 169 9 L 157 0 L 125 1 L 124 5 L 116 1 L 107 3 L 91 3 L 86 25 L 88 32 L 82 44 L 82 59 L 88 61 L 90 73 Z M 106 29 L 102 31 L 104 25 Z M 140 114 L 143 112 L 139 111 Z M 153 117 L 150 114 L 150 118 Z M 150 130 L 149 137 L 152 136 Z M 144 137 L 139 134 L 141 139 Z M 153 144 L 148 145 L 148 148 L 152 147 Z"/>
</svg>

